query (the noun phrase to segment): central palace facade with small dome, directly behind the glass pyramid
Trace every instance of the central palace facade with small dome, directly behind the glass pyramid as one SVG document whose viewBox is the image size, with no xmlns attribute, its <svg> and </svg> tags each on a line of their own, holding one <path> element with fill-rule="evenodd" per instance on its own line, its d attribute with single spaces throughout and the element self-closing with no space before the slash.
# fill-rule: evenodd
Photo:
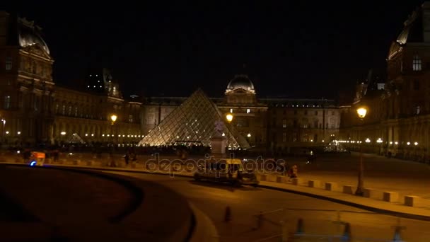
<svg viewBox="0 0 430 242">
<path fill-rule="evenodd" d="M 146 98 L 144 134 L 161 125 L 186 99 Z M 233 114 L 231 125 L 255 150 L 288 153 L 294 147 L 322 145 L 339 134 L 339 106 L 334 100 L 257 98 L 254 84 L 243 74 L 227 84 L 223 98 L 209 99 L 221 114 Z"/>
</svg>

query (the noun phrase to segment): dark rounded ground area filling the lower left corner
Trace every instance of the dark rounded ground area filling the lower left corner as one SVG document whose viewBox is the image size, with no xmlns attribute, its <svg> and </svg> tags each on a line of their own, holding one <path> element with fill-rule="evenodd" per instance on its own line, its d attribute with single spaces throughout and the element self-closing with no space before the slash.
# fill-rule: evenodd
<svg viewBox="0 0 430 242">
<path fill-rule="evenodd" d="M 0 241 L 180 241 L 194 226 L 172 190 L 93 171 L 0 164 L 0 199 Z"/>
</svg>

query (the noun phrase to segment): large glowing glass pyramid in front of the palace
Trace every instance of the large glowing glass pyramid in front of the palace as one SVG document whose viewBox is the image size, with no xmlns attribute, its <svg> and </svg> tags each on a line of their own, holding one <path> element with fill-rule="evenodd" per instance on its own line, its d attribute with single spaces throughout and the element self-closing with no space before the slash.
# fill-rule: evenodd
<svg viewBox="0 0 430 242">
<path fill-rule="evenodd" d="M 220 132 L 215 129 L 218 124 Z M 175 108 L 156 127 L 141 139 L 139 145 L 211 145 L 211 137 L 223 133 L 231 149 L 249 149 L 242 135 L 225 122 L 223 115 L 202 89 L 197 89 L 178 108 Z"/>
</svg>

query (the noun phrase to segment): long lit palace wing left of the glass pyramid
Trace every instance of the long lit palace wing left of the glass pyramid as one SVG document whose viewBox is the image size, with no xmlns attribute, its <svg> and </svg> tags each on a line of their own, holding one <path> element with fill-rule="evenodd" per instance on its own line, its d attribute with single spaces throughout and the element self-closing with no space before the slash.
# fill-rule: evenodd
<svg viewBox="0 0 430 242">
<path fill-rule="evenodd" d="M 57 86 L 40 30 L 0 11 L 1 143 L 54 144 L 74 136 L 86 143 L 139 141 L 141 103 L 124 100 L 105 69 L 88 74 L 84 90 Z M 118 120 L 112 126 L 113 113 Z"/>
</svg>

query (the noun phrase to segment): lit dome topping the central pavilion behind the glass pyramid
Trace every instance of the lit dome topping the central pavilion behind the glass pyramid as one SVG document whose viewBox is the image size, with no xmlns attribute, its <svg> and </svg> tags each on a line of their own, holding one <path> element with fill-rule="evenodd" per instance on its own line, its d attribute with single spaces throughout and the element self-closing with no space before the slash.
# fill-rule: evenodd
<svg viewBox="0 0 430 242">
<path fill-rule="evenodd" d="M 255 88 L 247 75 L 234 76 L 226 88 L 226 103 L 253 104 L 257 103 Z"/>
</svg>

